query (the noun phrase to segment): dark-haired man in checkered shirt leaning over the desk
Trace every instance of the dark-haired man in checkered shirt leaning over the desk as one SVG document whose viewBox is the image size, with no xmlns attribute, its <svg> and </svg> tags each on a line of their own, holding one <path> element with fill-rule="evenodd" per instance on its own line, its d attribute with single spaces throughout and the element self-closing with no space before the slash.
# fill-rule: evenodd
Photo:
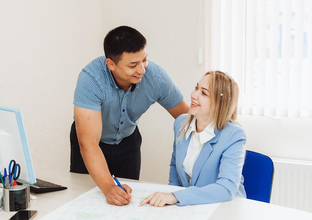
<svg viewBox="0 0 312 220">
<path fill-rule="evenodd" d="M 104 52 L 78 77 L 70 171 L 90 173 L 107 202 L 122 206 L 130 203 L 132 190 L 116 186 L 112 174 L 139 180 L 141 115 L 156 102 L 174 118 L 189 107 L 170 76 L 148 61 L 146 38 L 136 29 L 111 30 L 104 39 Z"/>
</svg>

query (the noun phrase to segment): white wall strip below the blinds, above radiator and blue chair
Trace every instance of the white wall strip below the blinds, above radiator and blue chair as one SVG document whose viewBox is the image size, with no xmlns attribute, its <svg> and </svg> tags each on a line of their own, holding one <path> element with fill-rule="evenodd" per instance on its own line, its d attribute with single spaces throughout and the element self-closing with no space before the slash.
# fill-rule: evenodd
<svg viewBox="0 0 312 220">
<path fill-rule="evenodd" d="M 270 157 L 312 161 L 312 119 L 238 115 L 248 150 Z"/>
</svg>

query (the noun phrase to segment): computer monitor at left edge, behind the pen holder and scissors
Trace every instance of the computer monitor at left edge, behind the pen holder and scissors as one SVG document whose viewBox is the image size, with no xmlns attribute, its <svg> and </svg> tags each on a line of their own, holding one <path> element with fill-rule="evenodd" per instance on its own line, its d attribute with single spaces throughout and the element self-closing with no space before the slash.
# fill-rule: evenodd
<svg viewBox="0 0 312 220">
<path fill-rule="evenodd" d="M 8 171 L 10 160 L 20 165 L 18 180 L 27 184 L 36 183 L 24 124 L 19 109 L 0 106 L 0 171 Z"/>
</svg>

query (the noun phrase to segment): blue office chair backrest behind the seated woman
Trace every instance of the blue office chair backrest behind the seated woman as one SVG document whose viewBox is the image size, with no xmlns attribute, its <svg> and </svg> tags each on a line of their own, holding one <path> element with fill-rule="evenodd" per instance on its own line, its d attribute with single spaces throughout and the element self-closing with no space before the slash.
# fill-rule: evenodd
<svg viewBox="0 0 312 220">
<path fill-rule="evenodd" d="M 247 199 L 270 203 L 274 176 L 271 158 L 246 150 L 243 176 Z"/>
</svg>

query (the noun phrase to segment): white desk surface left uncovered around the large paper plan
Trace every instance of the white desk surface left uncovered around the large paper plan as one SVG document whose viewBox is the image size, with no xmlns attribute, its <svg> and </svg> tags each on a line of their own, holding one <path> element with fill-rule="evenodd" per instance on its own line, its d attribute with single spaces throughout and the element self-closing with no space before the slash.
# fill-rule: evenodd
<svg viewBox="0 0 312 220">
<path fill-rule="evenodd" d="M 36 177 L 68 187 L 67 190 L 33 194 L 38 199 L 31 200 L 29 210 L 37 210 L 35 220 L 40 219 L 58 207 L 68 203 L 96 185 L 87 174 L 70 172 L 36 171 Z M 120 179 L 121 181 L 131 181 Z M 9 219 L 14 213 L 0 212 L 0 219 Z M 312 220 L 312 213 L 281 207 L 273 204 L 234 198 L 222 203 L 209 220 Z"/>
</svg>

